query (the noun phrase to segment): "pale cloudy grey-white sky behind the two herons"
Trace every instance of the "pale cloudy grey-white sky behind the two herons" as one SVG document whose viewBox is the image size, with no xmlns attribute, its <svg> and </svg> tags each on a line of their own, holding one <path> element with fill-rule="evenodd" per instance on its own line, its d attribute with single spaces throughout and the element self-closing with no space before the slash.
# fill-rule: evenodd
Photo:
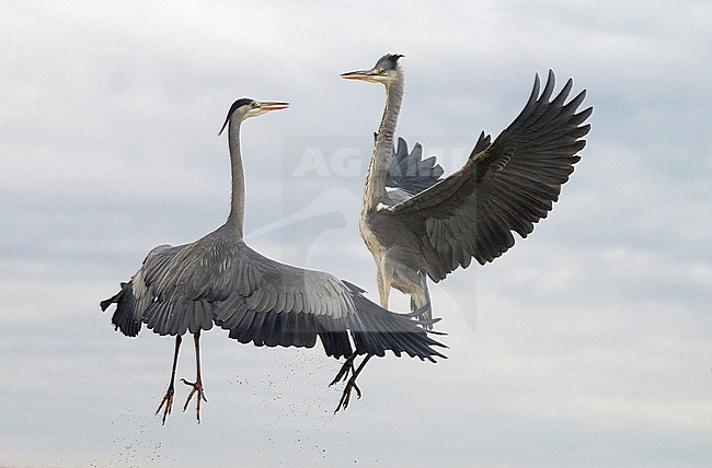
<svg viewBox="0 0 712 468">
<path fill-rule="evenodd" d="M 708 1 L 4 1 L 0 28 L 0 466 L 712 463 Z M 384 96 L 338 74 L 386 52 L 405 55 L 399 133 L 447 172 L 536 72 L 587 89 L 560 202 L 432 288 L 448 360 L 377 360 L 334 417 L 321 349 L 213 330 L 203 423 L 179 387 L 162 426 L 173 341 L 123 337 L 99 301 L 225 221 L 216 133 L 242 96 L 291 103 L 243 127 L 248 241 L 375 292 L 357 215 Z"/>
</svg>

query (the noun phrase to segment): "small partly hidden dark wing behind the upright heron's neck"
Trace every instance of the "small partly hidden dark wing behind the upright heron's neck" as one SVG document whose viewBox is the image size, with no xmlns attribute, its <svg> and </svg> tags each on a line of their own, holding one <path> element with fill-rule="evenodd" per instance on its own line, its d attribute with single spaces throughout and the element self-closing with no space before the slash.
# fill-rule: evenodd
<svg viewBox="0 0 712 468">
<path fill-rule="evenodd" d="M 436 184 L 445 171 L 435 156 L 423 159 L 423 147 L 415 143 L 413 151 L 407 152 L 407 143 L 398 139 L 398 148 L 393 152 L 391 165 L 386 175 L 386 187 L 405 190 L 415 195 Z"/>
</svg>

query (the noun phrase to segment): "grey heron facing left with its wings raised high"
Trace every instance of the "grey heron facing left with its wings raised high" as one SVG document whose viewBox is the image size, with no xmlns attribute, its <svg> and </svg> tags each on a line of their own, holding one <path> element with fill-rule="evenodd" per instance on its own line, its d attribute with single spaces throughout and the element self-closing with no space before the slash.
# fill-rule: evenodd
<svg viewBox="0 0 712 468">
<path fill-rule="evenodd" d="M 427 277 L 438 282 L 472 258 L 484 265 L 514 246 L 513 232 L 526 237 L 547 218 L 561 186 L 579 161 L 576 154 L 590 126 L 593 108 L 577 112 L 582 91 L 566 103 L 570 79 L 553 98 L 554 73 L 540 92 L 535 78 L 529 101 L 514 121 L 492 141 L 482 132 L 464 165 L 448 177 L 389 189 L 394 133 L 403 100 L 402 55 L 388 54 L 368 70 L 343 73 L 347 80 L 386 86 L 386 109 L 376 133 L 366 176 L 359 229 L 377 266 L 381 307 L 391 288 L 411 296 L 411 308 L 430 318 Z M 400 147 L 404 145 L 399 140 Z M 434 166 L 439 167 L 439 166 Z M 437 174 L 439 176 L 439 174 Z M 368 360 L 367 355 L 365 360 Z M 359 370 L 363 368 L 363 364 Z"/>
</svg>

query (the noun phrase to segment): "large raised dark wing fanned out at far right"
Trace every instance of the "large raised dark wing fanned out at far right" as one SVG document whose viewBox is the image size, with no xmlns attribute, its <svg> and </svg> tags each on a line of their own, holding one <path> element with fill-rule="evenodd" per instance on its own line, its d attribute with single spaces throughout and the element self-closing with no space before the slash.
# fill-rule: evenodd
<svg viewBox="0 0 712 468">
<path fill-rule="evenodd" d="M 380 210 L 399 217 L 420 233 L 424 251 L 435 251 L 438 265 L 427 274 L 439 281 L 471 258 L 484 265 L 509 249 L 512 232 L 526 237 L 559 199 L 561 186 L 579 161 L 576 155 L 590 126 L 582 125 L 593 108 L 576 113 L 582 91 L 565 103 L 573 81 L 550 101 L 554 73 L 549 71 L 539 95 L 539 75 L 527 105 L 495 140 L 481 133 L 462 168 L 430 188 Z"/>
</svg>

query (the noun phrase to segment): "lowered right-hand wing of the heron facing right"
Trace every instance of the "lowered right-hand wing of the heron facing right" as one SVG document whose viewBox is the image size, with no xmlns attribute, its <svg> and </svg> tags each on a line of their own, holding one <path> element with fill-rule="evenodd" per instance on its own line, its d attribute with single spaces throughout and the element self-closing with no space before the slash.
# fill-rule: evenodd
<svg viewBox="0 0 712 468">
<path fill-rule="evenodd" d="M 332 274 L 279 264 L 249 250 L 238 289 L 216 307 L 216 323 L 230 338 L 256 346 L 313 347 L 328 355 L 354 352 L 433 360 L 443 356 L 415 320 L 384 311 L 353 284 Z M 351 339 L 349 339 L 351 337 Z"/>
</svg>

